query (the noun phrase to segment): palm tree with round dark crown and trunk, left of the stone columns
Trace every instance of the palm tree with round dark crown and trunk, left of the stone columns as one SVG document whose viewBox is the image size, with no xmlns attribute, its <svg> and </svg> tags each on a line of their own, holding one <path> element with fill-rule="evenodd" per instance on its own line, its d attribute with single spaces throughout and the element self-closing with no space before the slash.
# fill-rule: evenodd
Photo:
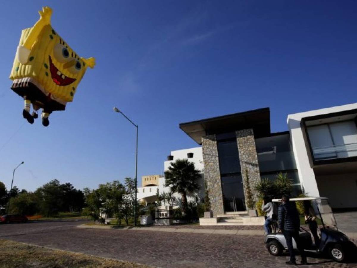
<svg viewBox="0 0 357 268">
<path fill-rule="evenodd" d="M 187 159 L 177 159 L 165 171 L 166 187 L 182 195 L 182 210 L 187 215 L 187 194 L 198 190 L 197 180 L 201 177 L 195 164 Z"/>
</svg>

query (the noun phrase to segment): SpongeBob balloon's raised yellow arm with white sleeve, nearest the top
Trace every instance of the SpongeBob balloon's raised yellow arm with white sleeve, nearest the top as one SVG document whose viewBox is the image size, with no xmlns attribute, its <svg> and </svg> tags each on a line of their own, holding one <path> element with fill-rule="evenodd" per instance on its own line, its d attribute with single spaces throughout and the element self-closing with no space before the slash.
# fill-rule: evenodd
<svg viewBox="0 0 357 268">
<path fill-rule="evenodd" d="M 40 35 L 42 29 L 51 24 L 51 15 L 52 9 L 48 6 L 42 8 L 42 11 L 39 11 L 40 19 L 35 23 L 35 25 L 31 28 L 29 34 L 26 36 L 24 40 L 24 44 L 22 46 L 17 47 L 17 58 L 22 64 L 26 64 L 30 53 L 31 48 L 37 40 L 37 37 Z"/>
</svg>

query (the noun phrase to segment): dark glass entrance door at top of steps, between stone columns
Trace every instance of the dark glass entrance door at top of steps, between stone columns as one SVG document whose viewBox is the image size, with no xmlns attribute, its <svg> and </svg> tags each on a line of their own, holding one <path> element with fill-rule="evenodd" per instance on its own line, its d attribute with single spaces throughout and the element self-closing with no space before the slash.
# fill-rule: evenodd
<svg viewBox="0 0 357 268">
<path fill-rule="evenodd" d="M 246 210 L 242 175 L 222 177 L 221 180 L 225 212 Z"/>
</svg>

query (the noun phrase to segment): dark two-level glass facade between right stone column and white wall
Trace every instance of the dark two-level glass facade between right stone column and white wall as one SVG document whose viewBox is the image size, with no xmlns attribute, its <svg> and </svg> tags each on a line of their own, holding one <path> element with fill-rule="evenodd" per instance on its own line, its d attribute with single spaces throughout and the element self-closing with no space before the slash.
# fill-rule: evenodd
<svg viewBox="0 0 357 268">
<path fill-rule="evenodd" d="M 292 180 L 292 195 L 301 193 L 290 135 L 288 133 L 255 140 L 260 177 L 275 180 L 277 173 L 286 173 Z"/>
</svg>

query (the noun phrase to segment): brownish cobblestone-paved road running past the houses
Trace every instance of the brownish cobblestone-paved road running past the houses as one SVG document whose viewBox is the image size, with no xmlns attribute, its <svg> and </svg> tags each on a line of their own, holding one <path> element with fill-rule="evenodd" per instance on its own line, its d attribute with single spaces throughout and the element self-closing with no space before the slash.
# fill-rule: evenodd
<svg viewBox="0 0 357 268">
<path fill-rule="evenodd" d="M 81 223 L 0 225 L 0 239 L 159 267 L 286 267 L 288 259 L 269 255 L 261 236 L 76 228 Z M 357 267 L 316 257 L 308 261 L 315 265 L 306 267 Z"/>
</svg>

